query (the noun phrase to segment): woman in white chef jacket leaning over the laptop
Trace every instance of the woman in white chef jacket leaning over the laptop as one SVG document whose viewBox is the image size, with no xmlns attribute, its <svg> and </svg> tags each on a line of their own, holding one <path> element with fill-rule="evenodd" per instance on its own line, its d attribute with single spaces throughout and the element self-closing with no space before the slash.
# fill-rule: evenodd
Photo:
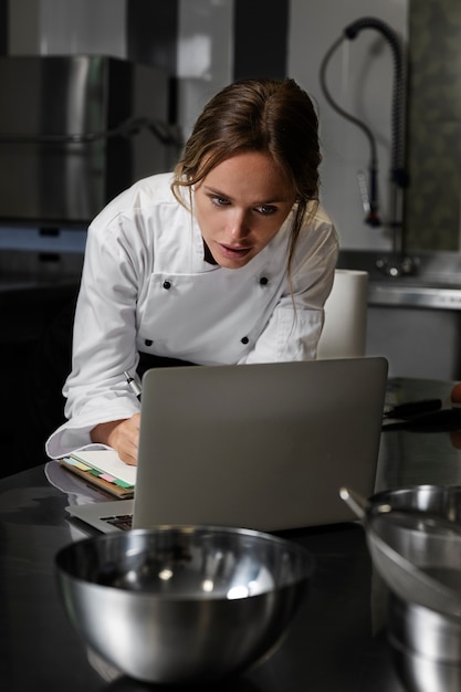
<svg viewBox="0 0 461 692">
<path fill-rule="evenodd" d="M 293 80 L 231 84 L 172 175 L 119 195 L 88 229 L 69 419 L 57 458 L 90 443 L 135 464 L 139 402 L 124 371 L 316 357 L 337 237 L 318 209 L 317 117 Z"/>
</svg>

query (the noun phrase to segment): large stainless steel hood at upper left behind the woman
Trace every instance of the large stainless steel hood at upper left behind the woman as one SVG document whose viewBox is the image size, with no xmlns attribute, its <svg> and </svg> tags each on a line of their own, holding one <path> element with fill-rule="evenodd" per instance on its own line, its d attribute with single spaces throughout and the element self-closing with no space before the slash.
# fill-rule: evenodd
<svg viewBox="0 0 461 692">
<path fill-rule="evenodd" d="M 107 56 L 0 57 L 0 224 L 86 227 L 167 170 L 168 88 L 163 70 Z"/>
</svg>

